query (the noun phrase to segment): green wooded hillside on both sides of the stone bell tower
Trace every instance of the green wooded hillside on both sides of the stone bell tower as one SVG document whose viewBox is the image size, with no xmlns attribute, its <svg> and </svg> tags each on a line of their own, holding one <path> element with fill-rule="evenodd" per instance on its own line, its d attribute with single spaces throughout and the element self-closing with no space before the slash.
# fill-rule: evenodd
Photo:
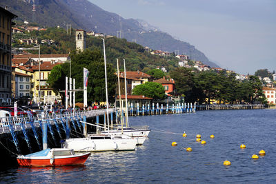
<svg viewBox="0 0 276 184">
<path fill-rule="evenodd" d="M 63 28 L 48 28 L 46 31 L 32 31 L 24 34 L 14 34 L 13 47 L 31 47 L 32 45 L 22 45 L 19 43 L 21 37 L 38 37 L 39 43 L 43 39 L 52 39 L 55 44 L 48 45 L 41 43 L 41 54 L 69 53 L 75 50 L 75 34 L 67 34 Z M 88 36 L 86 47 L 89 50 L 101 50 L 103 53 L 103 41 L 99 37 Z M 30 52 L 36 52 L 30 51 Z M 150 69 L 164 66 L 168 71 L 177 66 L 175 57 L 159 57 L 146 52 L 142 45 L 111 37 L 106 39 L 106 59 L 116 67 L 116 59 L 122 61 L 126 59 L 127 70 L 142 70 L 147 72 Z"/>
</svg>

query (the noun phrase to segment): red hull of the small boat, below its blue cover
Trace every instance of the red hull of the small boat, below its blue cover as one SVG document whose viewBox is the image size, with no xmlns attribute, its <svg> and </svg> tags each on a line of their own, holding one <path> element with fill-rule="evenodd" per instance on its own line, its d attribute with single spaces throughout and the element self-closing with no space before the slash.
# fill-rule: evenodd
<svg viewBox="0 0 276 184">
<path fill-rule="evenodd" d="M 26 167 L 46 167 L 63 165 L 83 165 L 90 156 L 90 153 L 74 156 L 55 156 L 54 158 L 28 158 L 26 156 L 17 157 L 17 163 Z M 51 161 L 52 160 L 52 161 Z"/>
</svg>

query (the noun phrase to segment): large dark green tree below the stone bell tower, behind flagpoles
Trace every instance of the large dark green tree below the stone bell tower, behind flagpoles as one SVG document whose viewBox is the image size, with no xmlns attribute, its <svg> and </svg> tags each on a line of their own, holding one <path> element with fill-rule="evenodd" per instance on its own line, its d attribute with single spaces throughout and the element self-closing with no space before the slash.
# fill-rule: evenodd
<svg viewBox="0 0 276 184">
<path fill-rule="evenodd" d="M 88 77 L 88 104 L 97 101 L 106 101 L 105 74 L 103 54 L 99 50 L 84 50 L 79 53 L 70 53 L 72 78 L 76 79 L 76 88 L 83 88 L 83 68 L 90 72 Z M 117 85 L 115 70 L 111 64 L 107 64 L 108 76 L 108 100 L 115 101 L 115 89 Z M 70 63 L 63 63 L 53 69 L 48 82 L 52 88 L 65 90 L 65 76 L 70 76 Z M 83 92 L 76 92 L 76 101 L 83 102 Z"/>
</svg>

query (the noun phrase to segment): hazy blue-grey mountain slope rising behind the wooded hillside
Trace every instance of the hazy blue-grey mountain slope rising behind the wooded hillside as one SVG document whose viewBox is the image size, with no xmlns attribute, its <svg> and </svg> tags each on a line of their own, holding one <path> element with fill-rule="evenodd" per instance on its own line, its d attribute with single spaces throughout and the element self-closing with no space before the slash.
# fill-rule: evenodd
<svg viewBox="0 0 276 184">
<path fill-rule="evenodd" d="M 36 5 L 35 12 L 32 11 L 33 3 Z M 146 21 L 124 19 L 107 12 L 88 0 L 1 0 L 0 6 L 8 6 L 8 10 L 19 16 L 17 21 L 36 22 L 46 27 L 59 25 L 63 28 L 70 24 L 72 28 L 111 34 L 153 50 L 178 50 L 179 54 L 191 56 L 193 60 L 218 67 L 190 43 L 174 39 Z"/>
</svg>

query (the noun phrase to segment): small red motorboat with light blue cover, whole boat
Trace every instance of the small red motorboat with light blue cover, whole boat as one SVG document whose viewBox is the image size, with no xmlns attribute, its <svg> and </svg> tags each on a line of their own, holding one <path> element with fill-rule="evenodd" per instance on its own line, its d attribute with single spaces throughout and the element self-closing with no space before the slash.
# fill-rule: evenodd
<svg viewBox="0 0 276 184">
<path fill-rule="evenodd" d="M 52 148 L 25 156 L 19 155 L 17 163 L 27 167 L 83 165 L 90 154 L 90 152 L 75 154 L 73 150 L 67 148 Z"/>
</svg>

